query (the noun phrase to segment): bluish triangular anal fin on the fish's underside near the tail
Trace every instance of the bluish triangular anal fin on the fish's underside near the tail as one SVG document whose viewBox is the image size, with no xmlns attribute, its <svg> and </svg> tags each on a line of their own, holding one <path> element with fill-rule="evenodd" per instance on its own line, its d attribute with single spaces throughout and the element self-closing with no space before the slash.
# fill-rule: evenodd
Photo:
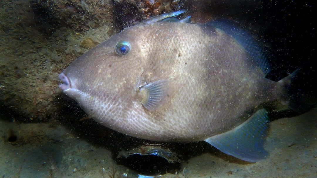
<svg viewBox="0 0 317 178">
<path fill-rule="evenodd" d="M 268 112 L 261 109 L 240 126 L 205 141 L 223 153 L 244 161 L 257 162 L 268 155 L 263 147 L 268 126 Z"/>
</svg>

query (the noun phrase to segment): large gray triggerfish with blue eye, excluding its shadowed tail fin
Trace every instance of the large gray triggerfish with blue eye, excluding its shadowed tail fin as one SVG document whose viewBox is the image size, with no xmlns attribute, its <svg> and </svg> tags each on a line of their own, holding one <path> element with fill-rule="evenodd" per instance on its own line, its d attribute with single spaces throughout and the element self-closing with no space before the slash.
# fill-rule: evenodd
<svg viewBox="0 0 317 178">
<path fill-rule="evenodd" d="M 115 131 L 160 142 L 206 141 L 239 159 L 268 156 L 268 112 L 281 100 L 260 43 L 230 21 L 141 21 L 77 58 L 59 88 Z M 169 20 L 170 18 L 171 20 Z M 283 82 L 284 80 L 284 82 Z"/>
</svg>

